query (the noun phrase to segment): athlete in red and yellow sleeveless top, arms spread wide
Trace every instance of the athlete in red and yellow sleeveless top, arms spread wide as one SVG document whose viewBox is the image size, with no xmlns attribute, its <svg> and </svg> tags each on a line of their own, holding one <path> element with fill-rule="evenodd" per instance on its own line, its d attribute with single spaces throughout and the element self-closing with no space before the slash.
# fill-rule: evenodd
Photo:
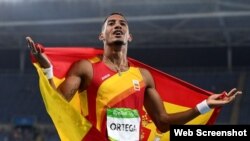
<svg viewBox="0 0 250 141">
<path fill-rule="evenodd" d="M 114 135 L 113 129 L 118 127 L 110 124 L 109 113 L 115 113 L 115 115 L 129 113 L 140 117 L 144 106 L 158 130 L 166 132 L 170 124 L 185 124 L 209 111 L 210 108 L 230 103 L 238 94 L 241 94 L 234 88 L 225 97 L 221 94 L 211 95 L 190 110 L 168 114 L 155 89 L 154 79 L 150 72 L 133 66 L 127 59 L 128 43 L 132 41 L 132 35 L 129 32 L 127 20 L 122 14 L 112 13 L 106 18 L 99 40 L 104 45 L 101 61 L 98 63 L 90 63 L 88 60 L 76 62 L 70 68 L 63 83 L 56 88 L 49 59 L 42 53 L 41 48 L 30 37 L 27 37 L 31 53 L 44 68 L 51 86 L 58 90 L 67 101 L 70 101 L 77 91 L 87 90 L 88 106 L 96 109 L 89 111 L 87 119 L 108 138 L 115 136 L 117 140 L 121 140 L 126 136 L 122 135 L 123 132 L 119 132 L 121 135 Z M 119 82 L 124 82 L 123 84 L 126 85 L 120 86 Z M 131 131 L 130 139 L 139 140 L 140 118 L 137 121 L 138 124 L 133 124 L 135 125 L 133 128 L 126 127 L 125 129 L 121 125 L 131 125 L 133 121 L 124 116 L 121 120 L 119 119 L 121 123 L 119 129 Z"/>
</svg>

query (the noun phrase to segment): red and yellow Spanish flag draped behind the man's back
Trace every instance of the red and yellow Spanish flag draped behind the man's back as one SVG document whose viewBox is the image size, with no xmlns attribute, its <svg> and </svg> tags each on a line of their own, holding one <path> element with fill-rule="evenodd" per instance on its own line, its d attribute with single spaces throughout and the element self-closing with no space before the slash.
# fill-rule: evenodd
<svg viewBox="0 0 250 141">
<path fill-rule="evenodd" d="M 43 51 L 53 65 L 53 79 L 56 86 L 60 85 L 64 80 L 65 75 L 74 62 L 81 59 L 89 59 L 95 63 L 100 61 L 97 56 L 103 53 L 103 50 L 92 47 L 45 47 Z M 76 93 L 73 99 L 67 102 L 50 86 L 39 64 L 33 56 L 31 58 L 39 75 L 39 86 L 46 110 L 57 129 L 60 139 L 62 141 L 108 140 L 85 118 L 88 115 L 86 91 Z M 197 103 L 212 94 L 209 91 L 198 88 L 132 58 L 129 58 L 129 61 L 133 65 L 146 68 L 151 72 L 156 89 L 161 95 L 168 113 L 193 108 Z M 213 124 L 219 111 L 220 108 L 215 108 L 206 114 L 198 116 L 187 124 Z M 169 140 L 169 132 L 159 133 L 146 112 L 144 115 L 141 115 L 141 120 L 143 126 L 140 136 L 141 140 L 152 141 L 156 137 L 160 137 L 162 141 Z"/>
</svg>

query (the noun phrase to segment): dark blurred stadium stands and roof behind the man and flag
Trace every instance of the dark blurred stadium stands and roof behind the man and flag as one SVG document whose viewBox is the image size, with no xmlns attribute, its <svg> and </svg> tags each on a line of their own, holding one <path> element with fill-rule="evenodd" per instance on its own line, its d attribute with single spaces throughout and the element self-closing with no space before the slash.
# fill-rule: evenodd
<svg viewBox="0 0 250 141">
<path fill-rule="evenodd" d="M 250 124 L 248 0 L 0 0 L 0 141 L 59 141 L 25 37 L 101 48 L 111 12 L 129 21 L 130 57 L 215 93 L 241 89 L 216 124 Z"/>
</svg>

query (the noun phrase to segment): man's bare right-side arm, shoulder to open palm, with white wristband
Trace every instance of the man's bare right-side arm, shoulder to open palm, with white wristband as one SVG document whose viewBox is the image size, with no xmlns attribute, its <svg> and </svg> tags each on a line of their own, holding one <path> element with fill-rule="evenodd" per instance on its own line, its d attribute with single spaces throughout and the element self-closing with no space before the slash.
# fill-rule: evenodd
<svg viewBox="0 0 250 141">
<path fill-rule="evenodd" d="M 206 101 L 198 104 L 194 108 L 189 110 L 168 114 L 166 112 L 163 105 L 163 101 L 158 94 L 157 90 L 155 89 L 154 80 L 149 71 L 145 69 L 141 69 L 143 74 L 145 83 L 146 83 L 146 90 L 145 90 L 145 98 L 144 98 L 144 107 L 155 123 L 156 127 L 161 132 L 166 132 L 170 128 L 171 124 L 179 124 L 183 125 L 190 120 L 194 119 L 195 117 L 199 116 L 201 113 L 205 112 L 207 108 L 214 108 L 218 106 L 223 106 L 227 103 L 230 103 L 238 94 L 241 94 L 240 91 L 237 91 L 235 88 L 232 89 L 227 96 L 222 97 L 222 94 L 214 94 L 209 96 Z M 204 110 L 205 104 L 205 110 Z M 199 106 L 198 106 L 199 105 Z"/>
</svg>

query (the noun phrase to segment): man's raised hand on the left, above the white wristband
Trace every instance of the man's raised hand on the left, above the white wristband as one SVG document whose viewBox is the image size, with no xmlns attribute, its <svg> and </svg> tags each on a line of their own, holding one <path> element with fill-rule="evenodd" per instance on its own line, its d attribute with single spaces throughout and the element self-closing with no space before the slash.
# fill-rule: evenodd
<svg viewBox="0 0 250 141">
<path fill-rule="evenodd" d="M 43 68 L 49 68 L 51 66 L 51 63 L 47 56 L 42 52 L 42 47 L 38 44 L 35 44 L 31 37 L 26 37 L 26 40 L 30 52 L 34 55 L 40 66 Z"/>
</svg>

